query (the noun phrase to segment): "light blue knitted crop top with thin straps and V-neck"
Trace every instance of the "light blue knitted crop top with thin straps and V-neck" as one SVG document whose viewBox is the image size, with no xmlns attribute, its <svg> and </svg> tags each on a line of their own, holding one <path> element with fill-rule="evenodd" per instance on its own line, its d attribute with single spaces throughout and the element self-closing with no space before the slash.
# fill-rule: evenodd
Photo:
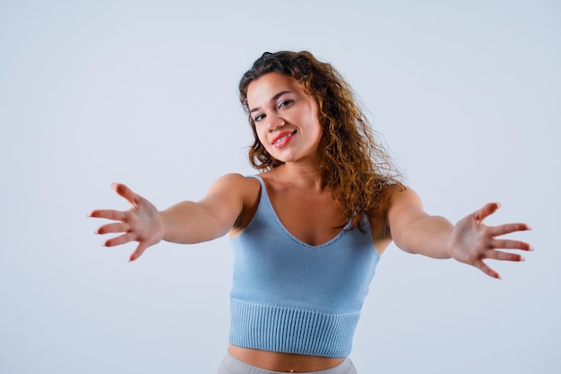
<svg viewBox="0 0 561 374">
<path fill-rule="evenodd" d="M 231 240 L 229 343 L 273 352 L 348 356 L 380 259 L 368 222 L 362 230 L 341 230 L 329 242 L 309 246 L 286 230 L 263 179 L 254 178 L 261 183 L 255 216 Z"/>
</svg>

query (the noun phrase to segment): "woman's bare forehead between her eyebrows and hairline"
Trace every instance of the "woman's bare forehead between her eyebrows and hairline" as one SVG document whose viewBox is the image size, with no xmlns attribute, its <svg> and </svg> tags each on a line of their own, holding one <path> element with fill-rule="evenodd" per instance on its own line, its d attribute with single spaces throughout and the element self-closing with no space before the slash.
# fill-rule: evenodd
<svg viewBox="0 0 561 374">
<path fill-rule="evenodd" d="M 272 100 L 282 91 L 304 93 L 300 83 L 291 76 L 280 73 L 267 73 L 247 86 L 247 104 L 255 108 Z"/>
</svg>

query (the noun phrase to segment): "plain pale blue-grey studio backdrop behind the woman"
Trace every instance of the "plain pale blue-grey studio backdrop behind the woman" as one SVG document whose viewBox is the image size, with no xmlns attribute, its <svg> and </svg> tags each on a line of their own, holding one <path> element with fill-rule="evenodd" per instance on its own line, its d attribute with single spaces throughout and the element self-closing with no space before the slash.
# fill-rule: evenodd
<svg viewBox="0 0 561 374">
<path fill-rule="evenodd" d="M 556 1 L 0 1 L 0 373 L 214 373 L 228 238 L 102 248 L 86 217 L 201 198 L 246 161 L 237 82 L 263 51 L 313 52 L 367 108 L 429 213 L 536 251 L 490 262 L 388 248 L 351 358 L 360 373 L 555 373 L 561 6 Z"/>
</svg>

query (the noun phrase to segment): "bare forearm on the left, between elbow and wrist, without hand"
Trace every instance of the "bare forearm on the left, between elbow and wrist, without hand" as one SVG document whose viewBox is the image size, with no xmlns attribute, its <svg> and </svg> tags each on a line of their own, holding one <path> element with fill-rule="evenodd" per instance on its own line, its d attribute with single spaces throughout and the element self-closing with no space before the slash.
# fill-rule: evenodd
<svg viewBox="0 0 561 374">
<path fill-rule="evenodd" d="M 191 201 L 175 204 L 160 212 L 166 233 L 164 240 L 194 244 L 219 238 L 229 230 L 204 207 Z"/>
</svg>

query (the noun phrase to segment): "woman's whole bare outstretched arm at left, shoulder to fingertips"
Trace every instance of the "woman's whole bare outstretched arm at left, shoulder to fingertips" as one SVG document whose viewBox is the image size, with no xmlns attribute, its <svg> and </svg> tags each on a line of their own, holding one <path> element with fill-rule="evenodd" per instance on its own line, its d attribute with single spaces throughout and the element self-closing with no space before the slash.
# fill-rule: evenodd
<svg viewBox="0 0 561 374">
<path fill-rule="evenodd" d="M 237 174 L 218 179 L 201 201 L 181 202 L 162 212 L 129 187 L 117 183 L 112 187 L 131 204 L 131 208 L 127 211 L 94 210 L 89 216 L 116 221 L 96 230 L 98 234 L 122 233 L 105 240 L 104 246 L 138 242 L 131 261 L 162 239 L 191 244 L 219 238 L 232 228 L 244 204 L 244 177 Z"/>
</svg>

